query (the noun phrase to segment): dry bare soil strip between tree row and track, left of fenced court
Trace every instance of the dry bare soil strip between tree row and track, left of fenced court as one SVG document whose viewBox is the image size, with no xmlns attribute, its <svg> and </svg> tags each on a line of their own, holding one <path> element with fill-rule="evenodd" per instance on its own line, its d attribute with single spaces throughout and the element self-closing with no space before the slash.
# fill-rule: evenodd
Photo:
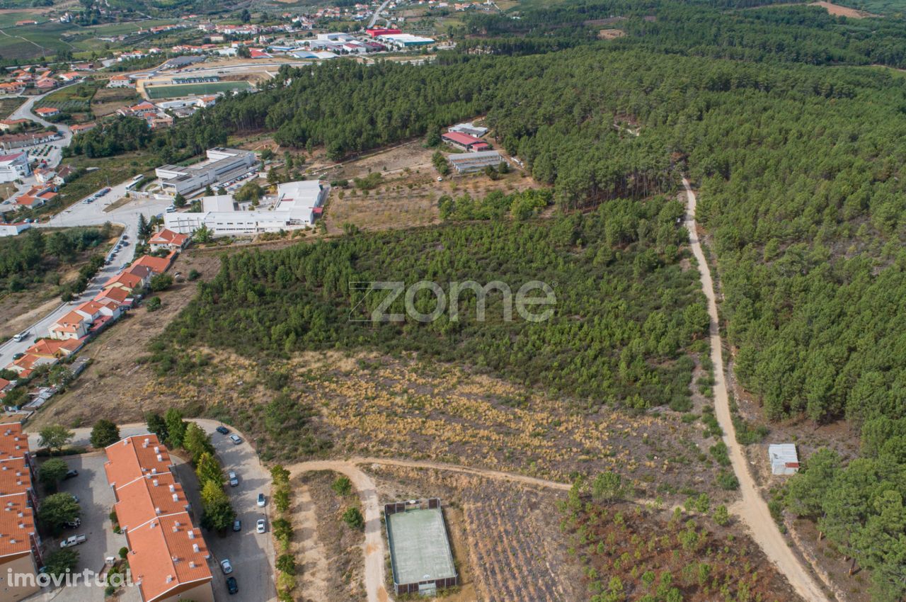
<svg viewBox="0 0 906 602">
<path fill-rule="evenodd" d="M 304 602 L 365 599 L 361 554 L 364 536 L 342 521 L 347 508 L 361 504 L 354 490 L 341 496 L 331 489 L 338 476 L 336 472 L 314 471 L 294 479 L 293 490 L 299 500 L 294 509 L 294 553 L 297 566 L 302 568 L 298 593 Z M 307 517 L 306 513 L 312 515 Z"/>
</svg>

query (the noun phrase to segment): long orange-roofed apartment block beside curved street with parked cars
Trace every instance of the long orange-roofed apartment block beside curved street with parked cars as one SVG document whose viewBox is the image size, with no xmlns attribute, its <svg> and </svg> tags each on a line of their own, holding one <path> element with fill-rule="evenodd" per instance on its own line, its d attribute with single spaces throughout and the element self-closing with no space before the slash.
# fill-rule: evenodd
<svg viewBox="0 0 906 602">
<path fill-rule="evenodd" d="M 105 449 L 104 472 L 126 536 L 131 577 L 144 602 L 214 602 L 211 554 L 195 527 L 169 451 L 153 433 Z"/>
</svg>

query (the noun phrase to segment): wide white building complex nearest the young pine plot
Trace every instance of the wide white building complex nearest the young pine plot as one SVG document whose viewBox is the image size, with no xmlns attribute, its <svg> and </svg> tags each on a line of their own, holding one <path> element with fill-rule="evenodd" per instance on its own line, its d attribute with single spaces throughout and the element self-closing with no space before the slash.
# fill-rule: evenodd
<svg viewBox="0 0 906 602">
<path fill-rule="evenodd" d="M 328 188 L 318 180 L 286 182 L 277 186 L 274 198 L 265 198 L 255 209 L 243 209 L 228 194 L 203 197 L 201 211 L 168 213 L 164 215 L 164 224 L 180 234 L 191 234 L 205 226 L 214 236 L 305 228 L 312 225 L 316 209 L 327 198 L 327 191 Z"/>
</svg>

